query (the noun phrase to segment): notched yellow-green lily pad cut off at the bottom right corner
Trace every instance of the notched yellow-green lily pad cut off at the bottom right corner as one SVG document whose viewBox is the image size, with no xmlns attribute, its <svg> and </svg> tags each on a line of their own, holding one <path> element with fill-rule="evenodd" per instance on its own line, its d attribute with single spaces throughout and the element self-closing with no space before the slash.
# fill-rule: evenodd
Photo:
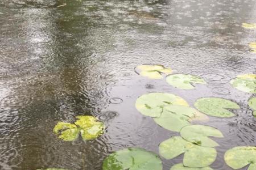
<svg viewBox="0 0 256 170">
<path fill-rule="evenodd" d="M 249 165 L 247 170 L 256 169 L 256 147 L 238 146 L 226 151 L 224 155 L 226 164 L 233 169 L 240 169 Z"/>
</svg>

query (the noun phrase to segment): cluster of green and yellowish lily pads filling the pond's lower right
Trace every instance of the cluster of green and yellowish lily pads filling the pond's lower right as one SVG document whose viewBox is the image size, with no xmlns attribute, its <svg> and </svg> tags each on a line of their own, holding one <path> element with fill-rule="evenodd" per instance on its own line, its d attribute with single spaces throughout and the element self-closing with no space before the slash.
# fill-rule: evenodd
<svg viewBox="0 0 256 170">
<path fill-rule="evenodd" d="M 166 76 L 168 84 L 185 90 L 195 88 L 195 84 L 206 84 L 199 76 L 171 74 L 171 69 L 162 65 L 141 65 L 136 67 L 135 71 L 151 79 L 161 79 L 164 74 L 168 74 Z M 240 91 L 256 93 L 254 74 L 238 75 L 230 83 Z M 194 106 L 196 109 L 190 107 L 181 97 L 162 92 L 145 94 L 136 100 L 135 107 L 140 113 L 152 117 L 162 128 L 180 133 L 180 136 L 171 137 L 159 145 L 159 154 L 165 159 L 173 159 L 184 154 L 183 162 L 173 165 L 170 170 L 212 170 L 209 165 L 216 160 L 217 151 L 214 147 L 217 147 L 218 143 L 209 137 L 224 136 L 216 128 L 191 123 L 194 120 L 208 120 L 208 116 L 234 117 L 236 114 L 229 109 L 240 109 L 237 103 L 217 97 L 197 99 Z M 256 110 L 256 97 L 249 100 L 249 106 Z M 226 151 L 224 160 L 234 169 L 240 169 L 248 164 L 250 164 L 249 170 L 256 169 L 256 147 L 231 148 Z M 102 168 L 103 170 L 161 170 L 163 167 L 158 155 L 142 148 L 125 148 L 110 154 L 104 160 Z"/>
</svg>

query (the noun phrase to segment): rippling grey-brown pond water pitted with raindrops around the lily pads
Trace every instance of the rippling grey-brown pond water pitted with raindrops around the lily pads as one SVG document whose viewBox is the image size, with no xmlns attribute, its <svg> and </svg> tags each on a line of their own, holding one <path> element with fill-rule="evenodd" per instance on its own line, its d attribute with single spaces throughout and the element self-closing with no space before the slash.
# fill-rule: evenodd
<svg viewBox="0 0 256 170">
<path fill-rule="evenodd" d="M 253 95 L 229 83 L 255 73 L 248 43 L 256 31 L 241 27 L 255 18 L 255 0 L 1 1 L 0 169 L 100 170 L 106 156 L 123 148 L 159 154 L 159 143 L 179 133 L 137 111 L 136 99 L 149 92 L 169 92 L 191 106 L 200 97 L 236 101 L 236 117 L 199 122 L 225 137 L 214 139 L 220 146 L 210 167 L 232 169 L 225 151 L 256 143 L 256 119 L 247 106 Z M 179 90 L 136 74 L 134 67 L 145 63 L 199 75 L 207 84 Z M 57 138 L 56 123 L 79 115 L 103 121 L 104 135 Z M 163 169 L 182 159 L 162 158 Z"/>
</svg>

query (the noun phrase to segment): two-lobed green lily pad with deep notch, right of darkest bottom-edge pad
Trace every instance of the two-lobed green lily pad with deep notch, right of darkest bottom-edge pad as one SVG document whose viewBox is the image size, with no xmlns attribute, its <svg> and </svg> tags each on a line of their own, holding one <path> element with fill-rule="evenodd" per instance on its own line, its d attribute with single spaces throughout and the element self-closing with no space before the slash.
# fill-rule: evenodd
<svg viewBox="0 0 256 170">
<path fill-rule="evenodd" d="M 159 153 L 165 159 L 173 159 L 184 153 L 183 164 L 191 168 L 208 167 L 217 156 L 215 148 L 198 146 L 181 137 L 171 137 L 160 143 Z"/>
</svg>

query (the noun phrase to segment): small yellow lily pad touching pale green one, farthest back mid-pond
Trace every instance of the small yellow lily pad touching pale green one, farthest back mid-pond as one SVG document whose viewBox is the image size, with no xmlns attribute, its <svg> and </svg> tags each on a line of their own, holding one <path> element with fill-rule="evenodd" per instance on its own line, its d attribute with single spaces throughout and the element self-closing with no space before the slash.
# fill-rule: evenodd
<svg viewBox="0 0 256 170">
<path fill-rule="evenodd" d="M 139 70 L 139 75 L 146 76 L 150 79 L 162 79 L 162 74 L 172 73 L 172 69 L 162 65 L 140 65 L 136 67 L 136 70 Z"/>
</svg>

